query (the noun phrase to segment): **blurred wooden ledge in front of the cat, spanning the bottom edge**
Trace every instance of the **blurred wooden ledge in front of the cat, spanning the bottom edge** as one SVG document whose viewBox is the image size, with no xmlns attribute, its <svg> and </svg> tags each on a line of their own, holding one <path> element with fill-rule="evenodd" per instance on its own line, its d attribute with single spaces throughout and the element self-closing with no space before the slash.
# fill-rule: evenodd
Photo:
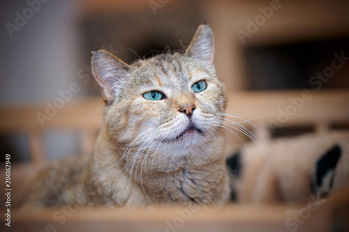
<svg viewBox="0 0 349 232">
<path fill-rule="evenodd" d="M 61 207 L 15 210 L 12 217 L 11 231 L 348 231 L 349 189 L 306 206 Z"/>
</svg>

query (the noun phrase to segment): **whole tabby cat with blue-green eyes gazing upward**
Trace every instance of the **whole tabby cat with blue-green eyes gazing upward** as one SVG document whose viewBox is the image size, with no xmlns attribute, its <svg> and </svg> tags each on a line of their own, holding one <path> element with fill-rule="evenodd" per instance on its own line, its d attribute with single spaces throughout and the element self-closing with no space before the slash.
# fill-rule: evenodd
<svg viewBox="0 0 349 232">
<path fill-rule="evenodd" d="M 104 50 L 91 68 L 105 102 L 94 151 L 39 174 L 34 206 L 223 204 L 230 196 L 221 122 L 224 84 L 202 24 L 184 53 L 128 65 Z"/>
</svg>

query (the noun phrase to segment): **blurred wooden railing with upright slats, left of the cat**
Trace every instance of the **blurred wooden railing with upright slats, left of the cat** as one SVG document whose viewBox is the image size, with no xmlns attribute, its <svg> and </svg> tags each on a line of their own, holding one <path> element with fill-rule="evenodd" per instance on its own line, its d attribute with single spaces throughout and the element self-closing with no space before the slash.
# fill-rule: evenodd
<svg viewBox="0 0 349 232">
<path fill-rule="evenodd" d="M 38 105 L 0 107 L 0 134 L 24 133 L 27 134 L 29 140 L 29 163 L 13 164 L 11 162 L 11 186 L 13 188 L 11 203 L 13 207 L 22 203 L 31 181 L 34 180 L 38 171 L 47 164 L 45 131 L 62 129 L 76 131 L 80 134 L 80 150 L 82 150 L 82 153 L 89 153 L 101 127 L 102 109 L 103 101 L 101 98 L 66 102 L 64 107 L 57 109 L 57 114 L 51 116 L 50 120 L 43 121 L 42 126 L 38 121 L 37 114 L 46 114 L 46 107 Z M 1 171 L 1 180 L 5 180 L 4 175 L 5 172 Z M 1 181 L 0 187 L 2 190 L 5 189 L 4 185 L 5 181 Z M 5 202 L 5 195 L 0 195 L 0 201 Z M 0 208 L 3 207 L 4 204 L 0 206 Z"/>
</svg>

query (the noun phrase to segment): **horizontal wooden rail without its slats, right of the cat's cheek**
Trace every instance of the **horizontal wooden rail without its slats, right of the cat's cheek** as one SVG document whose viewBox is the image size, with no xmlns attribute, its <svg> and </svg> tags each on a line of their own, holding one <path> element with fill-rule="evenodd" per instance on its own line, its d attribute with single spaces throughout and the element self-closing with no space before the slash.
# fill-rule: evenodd
<svg viewBox="0 0 349 232">
<path fill-rule="evenodd" d="M 260 117 L 253 122 L 279 121 L 280 111 L 294 105 L 291 98 L 299 98 L 301 91 L 251 91 L 229 94 L 228 114 L 243 114 L 244 119 Z M 313 91 L 311 99 L 296 107 L 295 114 L 289 114 L 289 120 L 280 123 L 292 125 L 315 125 L 316 123 L 348 123 L 348 91 Z"/>
</svg>

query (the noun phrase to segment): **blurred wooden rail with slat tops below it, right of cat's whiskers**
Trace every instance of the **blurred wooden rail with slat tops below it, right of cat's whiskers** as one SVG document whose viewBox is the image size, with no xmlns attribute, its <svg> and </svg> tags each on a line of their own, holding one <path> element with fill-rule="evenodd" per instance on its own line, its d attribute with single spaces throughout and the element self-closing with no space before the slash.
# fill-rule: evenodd
<svg viewBox="0 0 349 232">
<path fill-rule="evenodd" d="M 349 92 L 232 92 L 227 113 L 242 114 L 237 116 L 246 120 L 255 118 L 251 123 L 259 130 L 251 129 L 259 139 L 271 139 L 277 127 L 313 127 L 315 132 L 326 132 L 334 125 L 349 125 Z"/>
</svg>

